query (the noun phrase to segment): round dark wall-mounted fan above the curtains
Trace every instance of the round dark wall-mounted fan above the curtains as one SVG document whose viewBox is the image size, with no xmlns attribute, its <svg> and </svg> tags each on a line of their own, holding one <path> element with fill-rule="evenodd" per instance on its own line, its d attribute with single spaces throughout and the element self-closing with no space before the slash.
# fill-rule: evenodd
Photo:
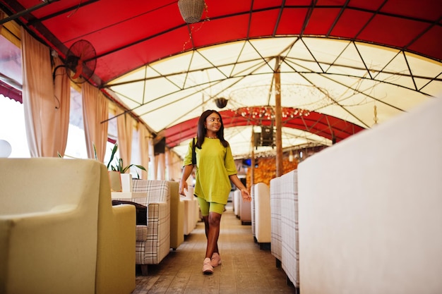
<svg viewBox="0 0 442 294">
<path fill-rule="evenodd" d="M 76 83 L 82 83 L 89 80 L 95 71 L 97 65 L 97 54 L 95 48 L 85 39 L 80 39 L 73 43 L 68 49 L 64 67 L 68 77 Z M 55 71 L 61 66 L 56 66 Z"/>
</svg>

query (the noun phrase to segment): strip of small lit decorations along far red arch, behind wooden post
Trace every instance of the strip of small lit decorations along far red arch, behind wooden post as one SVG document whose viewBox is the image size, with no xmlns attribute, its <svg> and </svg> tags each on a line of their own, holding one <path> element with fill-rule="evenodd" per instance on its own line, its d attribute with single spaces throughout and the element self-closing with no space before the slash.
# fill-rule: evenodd
<svg viewBox="0 0 442 294">
<path fill-rule="evenodd" d="M 275 109 L 272 106 L 250 106 L 237 109 L 237 114 L 244 118 L 261 118 L 272 120 L 275 118 Z M 281 107 L 282 118 L 295 118 L 309 116 L 310 111 L 306 109 Z"/>
</svg>

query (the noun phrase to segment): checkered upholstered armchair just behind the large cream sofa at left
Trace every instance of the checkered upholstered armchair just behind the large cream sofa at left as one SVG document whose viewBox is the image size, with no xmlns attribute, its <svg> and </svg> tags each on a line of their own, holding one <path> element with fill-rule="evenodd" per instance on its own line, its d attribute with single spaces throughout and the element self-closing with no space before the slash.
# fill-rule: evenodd
<svg viewBox="0 0 442 294">
<path fill-rule="evenodd" d="M 167 180 L 133 180 L 133 192 L 147 192 L 146 197 L 131 199 L 148 207 L 147 226 L 136 229 L 136 264 L 141 265 L 143 276 L 148 275 L 148 264 L 159 264 L 169 254 L 172 184 Z"/>
</svg>

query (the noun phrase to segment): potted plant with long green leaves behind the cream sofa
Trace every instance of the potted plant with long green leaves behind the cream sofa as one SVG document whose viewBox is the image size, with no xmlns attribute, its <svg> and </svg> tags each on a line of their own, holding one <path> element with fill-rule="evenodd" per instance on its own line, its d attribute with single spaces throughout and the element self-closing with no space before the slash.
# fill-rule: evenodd
<svg viewBox="0 0 442 294">
<path fill-rule="evenodd" d="M 111 182 L 111 190 L 114 192 L 132 192 L 132 175 L 126 173 L 131 166 L 136 166 L 138 169 L 146 171 L 144 166 L 138 164 L 129 164 L 124 166 L 123 159 L 117 158 L 115 154 L 118 150 L 118 144 L 115 144 L 112 148 L 111 157 L 109 163 L 107 164 L 107 169 L 109 171 L 109 180 Z M 112 161 L 115 163 L 112 164 Z M 137 178 L 140 178 L 138 171 L 136 171 Z"/>
</svg>

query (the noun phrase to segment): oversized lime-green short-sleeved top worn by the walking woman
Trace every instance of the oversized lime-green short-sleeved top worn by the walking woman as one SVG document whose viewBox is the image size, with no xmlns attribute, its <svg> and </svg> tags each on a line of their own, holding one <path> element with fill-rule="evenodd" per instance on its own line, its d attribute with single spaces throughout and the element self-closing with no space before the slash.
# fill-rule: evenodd
<svg viewBox="0 0 442 294">
<path fill-rule="evenodd" d="M 196 142 L 196 140 L 195 140 Z M 230 147 L 222 146 L 219 139 L 204 138 L 201 149 L 196 149 L 195 195 L 207 202 L 227 204 L 232 189 L 229 176 L 237 174 Z M 184 166 L 192 164 L 192 141 L 189 143 Z"/>
</svg>

